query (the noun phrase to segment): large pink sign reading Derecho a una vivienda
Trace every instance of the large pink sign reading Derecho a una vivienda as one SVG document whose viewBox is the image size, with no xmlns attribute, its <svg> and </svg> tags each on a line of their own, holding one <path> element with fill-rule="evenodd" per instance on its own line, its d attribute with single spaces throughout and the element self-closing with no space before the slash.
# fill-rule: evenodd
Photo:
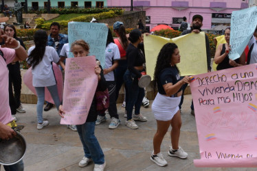
<svg viewBox="0 0 257 171">
<path fill-rule="evenodd" d="M 257 64 L 195 75 L 190 83 L 197 167 L 257 167 Z"/>
</svg>

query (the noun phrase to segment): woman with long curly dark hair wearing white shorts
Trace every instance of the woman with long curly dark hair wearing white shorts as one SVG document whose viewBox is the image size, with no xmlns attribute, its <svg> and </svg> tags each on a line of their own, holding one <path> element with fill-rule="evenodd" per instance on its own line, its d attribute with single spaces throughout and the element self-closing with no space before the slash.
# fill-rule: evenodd
<svg viewBox="0 0 257 171">
<path fill-rule="evenodd" d="M 179 146 L 181 116 L 179 102 L 181 99 L 181 86 L 190 82 L 190 77 L 180 79 L 179 69 L 176 64 L 180 62 L 179 49 L 175 43 L 167 43 L 162 47 L 157 57 L 154 81 L 157 83 L 158 93 L 153 101 L 152 110 L 157 121 L 157 131 L 153 137 L 153 154 L 150 160 L 159 166 L 166 166 L 167 161 L 161 154 L 161 142 L 168 128 L 171 144 L 168 155 L 186 159 L 188 153 Z"/>
</svg>

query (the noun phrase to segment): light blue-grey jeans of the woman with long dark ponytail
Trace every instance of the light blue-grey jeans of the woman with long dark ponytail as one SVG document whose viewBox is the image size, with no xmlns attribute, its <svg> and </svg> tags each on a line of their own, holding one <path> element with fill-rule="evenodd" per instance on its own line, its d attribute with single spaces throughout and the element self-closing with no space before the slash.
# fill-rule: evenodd
<svg viewBox="0 0 257 171">
<path fill-rule="evenodd" d="M 45 101 L 45 87 L 35 87 L 36 88 L 36 94 L 38 95 L 38 103 L 36 104 L 36 114 L 38 117 L 38 123 L 43 123 L 43 105 Z M 60 105 L 60 98 L 58 96 L 58 90 L 57 86 L 49 86 L 47 87 L 49 90 L 53 100 L 54 104 L 56 105 L 56 109 L 59 109 Z"/>
</svg>

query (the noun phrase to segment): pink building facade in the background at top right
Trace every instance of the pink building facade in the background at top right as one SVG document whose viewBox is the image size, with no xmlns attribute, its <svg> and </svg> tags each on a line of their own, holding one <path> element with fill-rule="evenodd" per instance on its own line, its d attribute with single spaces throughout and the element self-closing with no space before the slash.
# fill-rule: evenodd
<svg viewBox="0 0 257 171">
<path fill-rule="evenodd" d="M 192 23 L 194 14 L 203 16 L 203 29 L 215 25 L 230 25 L 235 10 L 248 8 L 249 0 L 134 0 L 133 5 L 142 5 L 146 11 L 146 27 L 166 24 L 178 29 L 183 16 Z M 107 0 L 107 5 L 131 5 L 129 0 Z M 143 18 L 142 18 L 143 19 Z"/>
</svg>

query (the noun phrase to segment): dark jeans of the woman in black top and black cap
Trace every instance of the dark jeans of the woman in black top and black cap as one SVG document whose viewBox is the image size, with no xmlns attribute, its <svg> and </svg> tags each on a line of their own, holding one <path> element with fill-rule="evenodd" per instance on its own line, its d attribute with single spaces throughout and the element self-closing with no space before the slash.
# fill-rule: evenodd
<svg viewBox="0 0 257 171">
<path fill-rule="evenodd" d="M 126 93 L 126 119 L 131 120 L 134 105 L 135 115 L 140 114 L 140 107 L 144 98 L 144 88 L 139 88 L 138 79 L 132 79 L 132 73 L 129 70 L 126 70 L 123 78 L 128 91 Z"/>
</svg>

